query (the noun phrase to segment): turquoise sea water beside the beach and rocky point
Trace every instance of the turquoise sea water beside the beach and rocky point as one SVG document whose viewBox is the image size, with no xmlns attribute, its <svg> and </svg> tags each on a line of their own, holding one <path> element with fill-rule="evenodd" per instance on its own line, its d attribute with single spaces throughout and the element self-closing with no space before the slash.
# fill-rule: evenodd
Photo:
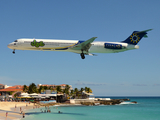
<svg viewBox="0 0 160 120">
<path fill-rule="evenodd" d="M 50 107 L 51 113 L 40 112 L 45 108 L 30 110 L 30 115 L 24 120 L 160 120 L 160 97 L 127 98 L 130 98 L 131 101 L 137 101 L 138 104 L 54 106 Z M 62 113 L 58 113 L 58 111 Z"/>
</svg>

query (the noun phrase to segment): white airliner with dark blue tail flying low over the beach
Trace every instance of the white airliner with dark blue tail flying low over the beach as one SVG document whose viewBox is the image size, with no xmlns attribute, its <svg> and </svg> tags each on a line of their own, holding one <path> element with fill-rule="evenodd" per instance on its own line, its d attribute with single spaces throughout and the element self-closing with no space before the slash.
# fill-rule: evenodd
<svg viewBox="0 0 160 120">
<path fill-rule="evenodd" d="M 134 31 L 126 40 L 122 42 L 93 42 L 97 37 L 92 37 L 87 41 L 79 40 L 57 40 L 57 39 L 17 39 L 8 44 L 8 48 L 15 50 L 41 50 L 41 51 L 66 51 L 80 54 L 82 59 L 85 55 L 95 55 L 93 53 L 118 53 L 132 49 L 138 49 L 137 43 L 142 37 L 147 37 L 147 32 Z"/>
</svg>

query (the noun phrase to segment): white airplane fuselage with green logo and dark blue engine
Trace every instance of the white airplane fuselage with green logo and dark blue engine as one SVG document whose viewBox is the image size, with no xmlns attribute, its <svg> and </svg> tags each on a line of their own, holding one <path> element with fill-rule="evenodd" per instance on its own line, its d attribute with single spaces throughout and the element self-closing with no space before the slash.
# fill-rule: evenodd
<svg viewBox="0 0 160 120">
<path fill-rule="evenodd" d="M 8 48 L 13 50 L 40 50 L 40 51 L 67 51 L 81 53 L 80 49 L 72 49 L 85 41 L 57 40 L 57 39 L 17 39 L 10 43 Z M 123 42 L 92 42 L 84 53 L 117 53 L 131 49 L 138 49 L 138 45 Z"/>
</svg>

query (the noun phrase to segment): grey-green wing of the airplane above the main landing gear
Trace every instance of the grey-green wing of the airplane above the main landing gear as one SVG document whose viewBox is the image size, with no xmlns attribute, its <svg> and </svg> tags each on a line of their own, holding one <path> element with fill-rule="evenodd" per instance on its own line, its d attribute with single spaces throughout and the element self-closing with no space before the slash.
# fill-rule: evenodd
<svg viewBox="0 0 160 120">
<path fill-rule="evenodd" d="M 97 37 L 92 37 L 89 40 L 82 42 L 78 45 L 75 45 L 71 47 L 71 50 L 81 50 L 81 51 L 86 51 L 88 52 L 89 48 L 91 47 L 91 43 L 96 39 Z"/>
</svg>

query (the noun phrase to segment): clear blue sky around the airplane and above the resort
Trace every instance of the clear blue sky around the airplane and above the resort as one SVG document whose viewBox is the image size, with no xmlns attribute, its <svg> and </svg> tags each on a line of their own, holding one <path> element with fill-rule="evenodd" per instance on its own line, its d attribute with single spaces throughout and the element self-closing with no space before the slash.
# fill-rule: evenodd
<svg viewBox="0 0 160 120">
<path fill-rule="evenodd" d="M 160 1 L 1 0 L 0 84 L 69 84 L 95 96 L 160 96 Z M 19 38 L 123 41 L 153 29 L 137 50 L 86 56 L 12 50 Z"/>
</svg>

